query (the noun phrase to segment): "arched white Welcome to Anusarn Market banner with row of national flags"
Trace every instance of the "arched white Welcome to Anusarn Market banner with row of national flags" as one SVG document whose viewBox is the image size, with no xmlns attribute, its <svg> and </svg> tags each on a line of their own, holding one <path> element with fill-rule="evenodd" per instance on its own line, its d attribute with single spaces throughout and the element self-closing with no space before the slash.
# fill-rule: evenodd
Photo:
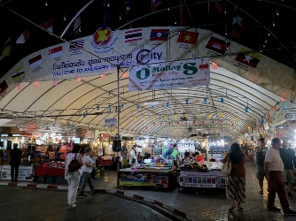
<svg viewBox="0 0 296 221">
<path fill-rule="evenodd" d="M 94 34 L 75 39 L 71 44 L 64 42 L 35 51 L 22 58 L 1 78 L 0 95 L 4 97 L 20 82 L 109 74 L 116 72 L 118 65 L 127 74 L 132 69 L 133 80 L 137 72 L 139 79 L 133 81 L 133 90 L 205 85 L 209 83 L 209 69 L 200 67 L 202 57 L 221 56 L 228 53 L 227 49 L 235 56 L 211 58 L 211 61 L 231 72 L 239 72 L 241 77 L 254 83 L 268 85 L 264 88 L 277 95 L 291 98 L 292 84 L 287 82 L 293 80 L 292 68 L 260 53 L 250 53 L 251 49 L 237 42 L 226 43 L 225 37 L 219 34 L 186 27 L 139 27 L 116 31 L 109 27 L 105 30 L 98 28 Z M 203 64 L 208 65 L 208 59 L 204 59 Z M 181 67 L 180 70 L 178 67 L 167 70 L 167 65 Z M 196 68 L 198 72 L 193 74 Z M 159 81 L 149 82 L 147 71 L 149 80 Z M 182 72 L 184 76 L 179 77 Z M 178 75 L 177 80 L 172 77 L 174 75 Z M 192 75 L 199 76 L 197 80 L 200 81 L 191 82 Z"/>
</svg>

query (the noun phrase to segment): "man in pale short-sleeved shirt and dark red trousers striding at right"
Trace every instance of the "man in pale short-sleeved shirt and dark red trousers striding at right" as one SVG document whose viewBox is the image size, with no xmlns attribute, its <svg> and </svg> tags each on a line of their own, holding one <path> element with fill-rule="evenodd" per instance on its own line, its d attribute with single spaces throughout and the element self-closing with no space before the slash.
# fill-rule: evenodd
<svg viewBox="0 0 296 221">
<path fill-rule="evenodd" d="M 265 155 L 264 169 L 270 185 L 267 207 L 268 210 L 272 211 L 281 210 L 275 207 L 277 193 L 284 215 L 296 216 L 296 211 L 290 209 L 287 195 L 285 194 L 282 183 L 282 171 L 284 171 L 284 164 L 281 156 L 279 155 L 280 148 L 281 140 L 279 138 L 274 138 L 271 141 L 271 149 L 269 149 Z"/>
</svg>

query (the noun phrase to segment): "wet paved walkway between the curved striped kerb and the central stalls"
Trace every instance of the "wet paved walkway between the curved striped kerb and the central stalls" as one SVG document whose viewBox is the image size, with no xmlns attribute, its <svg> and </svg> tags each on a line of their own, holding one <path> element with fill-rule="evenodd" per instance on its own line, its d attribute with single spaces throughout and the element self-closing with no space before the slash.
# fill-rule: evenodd
<svg viewBox="0 0 296 221">
<path fill-rule="evenodd" d="M 162 203 L 163 207 L 169 210 L 177 210 L 191 220 L 210 221 L 210 220 L 296 220 L 296 217 L 284 216 L 283 211 L 272 212 L 266 210 L 268 192 L 266 190 L 267 182 L 264 183 L 264 194 L 259 194 L 259 185 L 255 177 L 255 165 L 246 164 L 246 202 L 243 204 L 244 210 L 234 210 L 229 212 L 230 202 L 226 200 L 225 190 L 213 188 L 184 188 L 178 192 L 155 187 L 121 187 L 117 188 L 116 171 L 105 171 L 105 176 L 94 179 L 95 187 L 100 191 L 111 190 L 118 194 L 125 194 L 136 199 Z M 4 185 L 4 182 L 0 183 Z M 19 186 L 25 186 L 19 183 Z M 35 184 L 31 184 L 35 185 Z M 39 184 L 41 187 L 42 184 Z M 47 186 L 45 188 L 66 188 L 66 186 Z M 24 190 L 26 191 L 26 190 Z M 293 192 L 296 196 L 296 192 Z M 296 210 L 296 199 L 289 199 L 292 210 Z M 278 199 L 276 206 L 280 208 Z"/>
</svg>

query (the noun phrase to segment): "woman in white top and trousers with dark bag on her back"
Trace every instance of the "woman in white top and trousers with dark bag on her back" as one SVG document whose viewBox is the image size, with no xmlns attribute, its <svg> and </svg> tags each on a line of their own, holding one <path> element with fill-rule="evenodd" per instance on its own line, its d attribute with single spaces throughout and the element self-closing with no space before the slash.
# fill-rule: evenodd
<svg viewBox="0 0 296 221">
<path fill-rule="evenodd" d="M 67 200 L 69 204 L 69 209 L 74 209 L 76 207 L 75 204 L 75 198 L 77 194 L 77 189 L 79 185 L 80 177 L 82 176 L 82 169 L 80 168 L 77 171 L 69 171 L 68 166 L 70 162 L 76 157 L 79 164 L 82 166 L 82 155 L 79 153 L 81 150 L 81 146 L 79 144 L 74 144 L 74 147 L 72 149 L 72 153 L 69 153 L 66 156 L 65 160 L 65 179 L 68 182 L 68 194 L 67 194 Z"/>
</svg>

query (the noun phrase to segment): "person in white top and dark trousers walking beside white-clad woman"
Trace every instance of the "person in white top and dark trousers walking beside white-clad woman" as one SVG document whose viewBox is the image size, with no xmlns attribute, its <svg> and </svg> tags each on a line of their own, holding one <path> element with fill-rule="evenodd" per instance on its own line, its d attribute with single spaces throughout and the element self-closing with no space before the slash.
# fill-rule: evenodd
<svg viewBox="0 0 296 221">
<path fill-rule="evenodd" d="M 91 171 L 96 167 L 96 164 L 94 163 L 94 161 L 90 158 L 91 155 L 91 148 L 88 147 L 85 149 L 85 154 L 82 158 L 83 161 L 83 165 L 82 165 L 82 176 L 83 176 L 83 181 L 82 181 L 82 185 L 80 187 L 79 190 L 79 195 L 78 197 L 86 197 L 85 194 L 83 194 L 83 191 L 85 189 L 85 186 L 87 183 L 89 183 L 89 187 L 91 190 L 91 194 L 93 196 L 97 195 L 95 193 L 95 187 L 92 183 L 92 178 L 91 178 Z"/>
</svg>

